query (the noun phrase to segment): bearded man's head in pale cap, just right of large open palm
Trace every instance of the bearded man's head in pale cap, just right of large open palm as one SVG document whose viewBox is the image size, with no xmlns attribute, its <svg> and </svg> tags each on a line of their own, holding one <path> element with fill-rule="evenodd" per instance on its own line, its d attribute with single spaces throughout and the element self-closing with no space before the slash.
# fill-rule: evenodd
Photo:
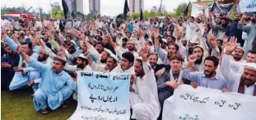
<svg viewBox="0 0 256 120">
<path fill-rule="evenodd" d="M 244 52 L 245 52 L 244 48 L 237 47 L 237 48 L 235 48 L 235 51 L 232 53 L 231 56 L 234 58 L 235 62 L 246 62 L 243 59 Z"/>
</svg>

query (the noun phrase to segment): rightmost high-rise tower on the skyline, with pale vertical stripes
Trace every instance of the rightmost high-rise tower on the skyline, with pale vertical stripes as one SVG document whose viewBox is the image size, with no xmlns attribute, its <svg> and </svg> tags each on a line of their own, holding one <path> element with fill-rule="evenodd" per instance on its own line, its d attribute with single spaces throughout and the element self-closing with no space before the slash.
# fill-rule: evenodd
<svg viewBox="0 0 256 120">
<path fill-rule="evenodd" d="M 140 10 L 144 10 L 144 0 L 129 0 L 129 12 L 132 15 L 133 13 L 139 13 Z"/>
</svg>

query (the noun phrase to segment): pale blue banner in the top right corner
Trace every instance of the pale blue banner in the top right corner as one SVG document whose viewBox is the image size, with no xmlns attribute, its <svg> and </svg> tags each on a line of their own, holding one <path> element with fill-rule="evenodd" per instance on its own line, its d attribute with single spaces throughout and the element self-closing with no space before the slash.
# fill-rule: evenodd
<svg viewBox="0 0 256 120">
<path fill-rule="evenodd" d="M 237 12 L 256 12 L 256 0 L 240 0 Z"/>
</svg>

